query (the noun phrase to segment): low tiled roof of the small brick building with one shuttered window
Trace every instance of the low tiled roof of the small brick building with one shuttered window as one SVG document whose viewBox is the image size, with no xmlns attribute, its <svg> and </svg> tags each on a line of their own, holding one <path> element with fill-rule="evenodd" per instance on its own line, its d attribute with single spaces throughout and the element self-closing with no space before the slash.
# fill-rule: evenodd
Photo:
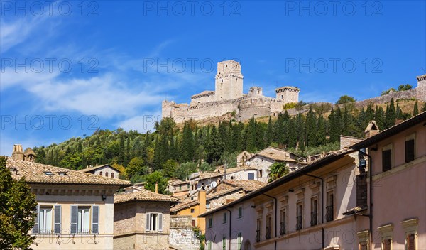
<svg viewBox="0 0 426 250">
<path fill-rule="evenodd" d="M 151 192 L 144 188 L 136 192 L 124 192 L 114 195 L 114 203 L 129 202 L 131 200 L 155 201 L 155 202 L 176 202 L 177 198 Z"/>
</svg>

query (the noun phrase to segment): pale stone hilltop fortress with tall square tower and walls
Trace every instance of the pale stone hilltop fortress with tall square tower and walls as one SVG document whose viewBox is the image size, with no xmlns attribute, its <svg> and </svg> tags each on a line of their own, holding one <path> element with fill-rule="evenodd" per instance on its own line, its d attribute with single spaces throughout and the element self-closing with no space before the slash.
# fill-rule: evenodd
<svg viewBox="0 0 426 250">
<path fill-rule="evenodd" d="M 177 104 L 163 101 L 163 118 L 172 117 L 177 123 L 187 120 L 201 121 L 211 117 L 235 112 L 236 119 L 246 121 L 252 116 L 277 115 L 283 111 L 283 105 L 299 102 L 300 89 L 280 87 L 275 89 L 276 97 L 263 95 L 261 87 L 251 87 L 249 93 L 243 93 L 243 75 L 241 65 L 234 60 L 217 63 L 215 90 L 203 91 L 191 97 L 191 103 Z"/>
</svg>

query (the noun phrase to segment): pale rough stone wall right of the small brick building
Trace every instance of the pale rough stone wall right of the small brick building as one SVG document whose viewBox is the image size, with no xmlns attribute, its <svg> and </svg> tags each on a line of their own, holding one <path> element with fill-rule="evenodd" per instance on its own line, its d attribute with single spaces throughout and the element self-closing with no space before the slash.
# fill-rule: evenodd
<svg viewBox="0 0 426 250">
<path fill-rule="evenodd" d="M 192 216 L 170 216 L 170 246 L 178 250 L 200 249 L 200 241 L 192 230 Z"/>
</svg>

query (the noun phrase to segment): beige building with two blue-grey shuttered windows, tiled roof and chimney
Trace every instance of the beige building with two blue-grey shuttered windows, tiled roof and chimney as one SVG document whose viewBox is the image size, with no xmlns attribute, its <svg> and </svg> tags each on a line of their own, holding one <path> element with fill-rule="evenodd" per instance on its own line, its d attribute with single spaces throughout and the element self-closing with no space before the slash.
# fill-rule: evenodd
<svg viewBox="0 0 426 250">
<path fill-rule="evenodd" d="M 25 178 L 35 194 L 37 218 L 33 249 L 113 249 L 114 193 L 126 180 L 82 173 L 24 160 L 15 145 L 6 166 Z M 31 161 L 30 161 L 31 160 Z"/>
</svg>

